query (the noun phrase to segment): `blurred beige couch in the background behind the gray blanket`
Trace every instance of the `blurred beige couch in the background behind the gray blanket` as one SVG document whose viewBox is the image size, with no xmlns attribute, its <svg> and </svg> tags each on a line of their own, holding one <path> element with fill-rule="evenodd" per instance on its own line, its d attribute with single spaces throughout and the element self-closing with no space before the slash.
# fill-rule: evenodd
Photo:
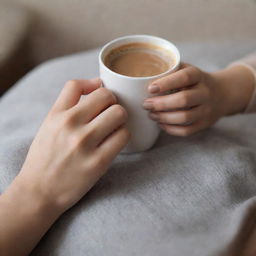
<svg viewBox="0 0 256 256">
<path fill-rule="evenodd" d="M 57 56 L 148 33 L 174 42 L 255 38 L 255 0 L 0 0 L 0 94 Z"/>
</svg>

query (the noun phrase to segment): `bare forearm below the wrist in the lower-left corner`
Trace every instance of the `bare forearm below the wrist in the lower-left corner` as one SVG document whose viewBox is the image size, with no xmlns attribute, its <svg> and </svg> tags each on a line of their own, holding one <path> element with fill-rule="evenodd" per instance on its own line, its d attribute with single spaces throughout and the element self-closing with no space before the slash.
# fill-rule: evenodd
<svg viewBox="0 0 256 256">
<path fill-rule="evenodd" d="M 0 196 L 0 255 L 28 255 L 59 216 L 27 185 L 16 177 Z"/>
</svg>

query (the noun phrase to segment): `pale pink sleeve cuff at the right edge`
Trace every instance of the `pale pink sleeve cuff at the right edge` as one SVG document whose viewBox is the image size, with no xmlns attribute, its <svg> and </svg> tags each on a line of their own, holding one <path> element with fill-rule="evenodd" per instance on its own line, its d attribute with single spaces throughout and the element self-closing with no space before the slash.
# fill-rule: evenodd
<svg viewBox="0 0 256 256">
<path fill-rule="evenodd" d="M 256 52 L 254 54 L 250 54 L 244 57 L 241 60 L 238 60 L 231 65 L 243 65 L 247 67 L 254 75 L 255 83 L 254 83 L 254 92 L 252 94 L 251 100 L 248 106 L 245 109 L 246 113 L 256 112 Z"/>
</svg>

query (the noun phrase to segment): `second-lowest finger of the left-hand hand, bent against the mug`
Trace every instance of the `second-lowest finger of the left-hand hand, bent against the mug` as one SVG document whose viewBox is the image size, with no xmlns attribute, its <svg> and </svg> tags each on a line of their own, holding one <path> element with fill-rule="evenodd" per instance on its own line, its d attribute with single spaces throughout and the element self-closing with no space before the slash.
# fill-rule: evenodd
<svg viewBox="0 0 256 256">
<path fill-rule="evenodd" d="M 86 130 L 92 131 L 90 141 L 93 146 L 97 146 L 127 121 L 126 110 L 120 105 L 112 105 L 95 117 L 88 125 Z M 88 135 L 88 134 L 87 134 Z"/>
</svg>

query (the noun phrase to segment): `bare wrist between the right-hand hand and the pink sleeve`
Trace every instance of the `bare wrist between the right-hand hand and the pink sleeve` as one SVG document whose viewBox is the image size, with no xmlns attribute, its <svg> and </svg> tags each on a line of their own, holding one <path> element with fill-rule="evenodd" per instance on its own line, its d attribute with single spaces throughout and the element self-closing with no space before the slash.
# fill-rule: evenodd
<svg viewBox="0 0 256 256">
<path fill-rule="evenodd" d="M 213 73 L 213 77 L 221 93 L 223 115 L 243 112 L 255 88 L 253 73 L 243 65 L 234 65 Z"/>
</svg>

